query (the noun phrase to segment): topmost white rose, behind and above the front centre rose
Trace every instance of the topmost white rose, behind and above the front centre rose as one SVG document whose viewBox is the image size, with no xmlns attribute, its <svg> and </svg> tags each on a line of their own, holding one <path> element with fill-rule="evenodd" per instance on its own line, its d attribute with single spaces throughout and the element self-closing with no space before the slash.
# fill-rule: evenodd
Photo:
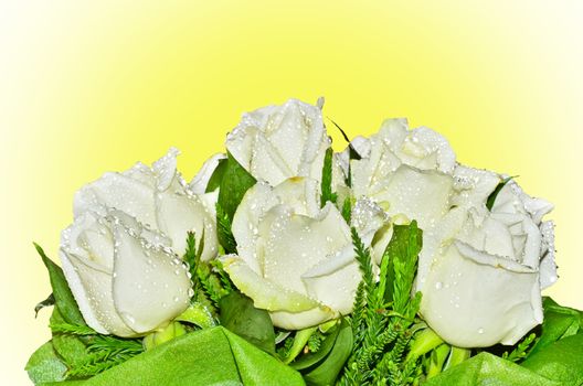
<svg viewBox="0 0 583 386">
<path fill-rule="evenodd" d="M 320 181 L 330 139 L 321 108 L 289 99 L 243 115 L 226 138 L 226 149 L 257 180 L 275 186 L 288 178 Z M 335 169 L 339 169 L 337 162 Z M 335 172 L 335 184 L 339 181 Z"/>
</svg>

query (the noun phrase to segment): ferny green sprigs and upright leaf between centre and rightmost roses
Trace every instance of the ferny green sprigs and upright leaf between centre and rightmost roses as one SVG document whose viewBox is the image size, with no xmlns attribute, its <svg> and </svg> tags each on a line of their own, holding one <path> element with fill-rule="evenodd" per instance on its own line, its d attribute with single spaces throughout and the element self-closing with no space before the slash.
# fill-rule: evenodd
<svg viewBox="0 0 583 386">
<path fill-rule="evenodd" d="M 421 293 L 411 299 L 421 239 L 422 232 L 416 222 L 395 225 L 377 282 L 370 251 L 356 229 L 352 230 L 362 281 L 357 289 L 351 320 L 354 349 L 343 368 L 340 385 L 400 385 L 417 382 L 421 377 L 420 360 L 407 357 L 421 302 Z"/>
</svg>

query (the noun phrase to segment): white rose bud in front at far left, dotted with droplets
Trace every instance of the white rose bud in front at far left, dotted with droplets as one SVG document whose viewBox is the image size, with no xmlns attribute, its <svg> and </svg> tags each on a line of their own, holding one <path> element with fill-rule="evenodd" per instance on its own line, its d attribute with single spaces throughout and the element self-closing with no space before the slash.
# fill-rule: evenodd
<svg viewBox="0 0 583 386">
<path fill-rule="evenodd" d="M 119 211 L 80 214 L 63 230 L 63 271 L 87 324 L 103 334 L 136 336 L 163 328 L 188 308 L 188 269 L 169 240 Z M 155 244 L 152 244 L 152 242 Z"/>
</svg>

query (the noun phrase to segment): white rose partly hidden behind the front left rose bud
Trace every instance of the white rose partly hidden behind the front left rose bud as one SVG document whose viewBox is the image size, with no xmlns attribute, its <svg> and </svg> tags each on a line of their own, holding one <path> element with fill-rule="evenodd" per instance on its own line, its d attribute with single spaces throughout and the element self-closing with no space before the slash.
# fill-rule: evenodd
<svg viewBox="0 0 583 386">
<path fill-rule="evenodd" d="M 120 210 L 141 224 L 163 233 L 179 256 L 187 247 L 187 232 L 193 230 L 197 243 L 204 234 L 203 260 L 216 255 L 214 202 L 216 193 L 193 194 L 177 172 L 177 149 L 153 163 L 137 163 L 123 173 L 106 173 L 83 186 L 73 204 L 75 217 L 87 210 Z"/>
</svg>

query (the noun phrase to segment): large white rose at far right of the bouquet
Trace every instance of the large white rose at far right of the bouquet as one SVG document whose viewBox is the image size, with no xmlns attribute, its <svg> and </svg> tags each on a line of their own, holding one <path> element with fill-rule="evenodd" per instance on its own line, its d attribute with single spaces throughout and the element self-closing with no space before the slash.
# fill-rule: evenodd
<svg viewBox="0 0 583 386">
<path fill-rule="evenodd" d="M 541 223 L 552 206 L 509 182 L 490 212 L 485 199 L 500 179 L 469 168 L 459 174 L 473 186 L 453 200 L 463 204 L 465 197 L 466 205 L 424 233 L 416 286 L 423 292 L 421 313 L 456 346 L 515 344 L 542 322 L 541 288 L 556 280 L 552 223 Z M 473 206 L 476 196 L 479 206 Z"/>
</svg>

